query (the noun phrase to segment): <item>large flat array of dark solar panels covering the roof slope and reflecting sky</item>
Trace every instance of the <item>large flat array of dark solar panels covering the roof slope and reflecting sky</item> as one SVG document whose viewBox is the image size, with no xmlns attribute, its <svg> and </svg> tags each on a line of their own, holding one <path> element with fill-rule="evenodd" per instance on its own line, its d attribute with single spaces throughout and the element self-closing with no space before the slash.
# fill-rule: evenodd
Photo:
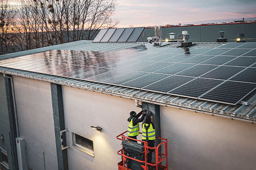
<svg viewBox="0 0 256 170">
<path fill-rule="evenodd" d="M 111 53 L 52 50 L 0 66 L 236 105 L 256 88 L 255 48 L 228 43 L 188 52 L 151 45 Z"/>
</svg>

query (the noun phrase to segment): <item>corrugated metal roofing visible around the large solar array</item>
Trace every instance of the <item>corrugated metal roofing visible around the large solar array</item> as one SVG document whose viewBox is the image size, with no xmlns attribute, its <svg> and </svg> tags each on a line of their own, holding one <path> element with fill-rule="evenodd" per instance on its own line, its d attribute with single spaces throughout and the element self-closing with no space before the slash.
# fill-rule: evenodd
<svg viewBox="0 0 256 170">
<path fill-rule="evenodd" d="M 24 52 L 18 52 L 13 54 L 7 54 L 0 56 L 1 59 L 11 58 L 21 55 L 33 54 L 43 52 L 52 49 L 66 49 L 66 50 L 91 50 L 91 51 L 105 51 L 114 52 L 117 50 L 127 49 L 142 45 L 142 43 L 91 43 L 91 41 L 76 41 L 73 43 L 67 43 L 62 45 L 38 48 L 33 50 L 27 50 Z M 219 43 L 197 43 L 196 47 L 215 48 L 221 44 Z M 171 44 L 171 46 L 177 46 L 177 44 Z M 235 120 L 242 120 L 247 122 L 256 123 L 256 95 L 254 92 L 250 96 L 246 97 L 241 104 L 236 106 L 219 104 L 210 101 L 203 101 L 198 99 L 190 99 L 185 97 L 177 97 L 172 95 L 159 94 L 157 92 L 150 92 L 144 90 L 138 90 L 133 88 L 118 87 L 103 83 L 96 83 L 83 80 L 75 80 L 71 78 L 63 78 L 54 75 L 46 75 L 41 73 L 33 73 L 28 71 L 20 71 L 14 69 L 7 69 L 0 67 L 0 72 L 5 74 L 16 75 L 19 77 L 25 77 L 35 80 L 47 81 L 52 83 L 62 84 L 64 86 L 70 86 L 75 88 L 81 88 L 91 91 L 97 91 L 106 93 L 109 95 L 115 95 L 119 97 L 125 97 L 130 99 L 138 99 L 148 103 L 154 103 L 163 106 L 176 107 L 180 109 L 188 109 L 194 112 L 200 112 L 204 114 L 217 115 L 222 117 L 233 118 Z"/>
</svg>

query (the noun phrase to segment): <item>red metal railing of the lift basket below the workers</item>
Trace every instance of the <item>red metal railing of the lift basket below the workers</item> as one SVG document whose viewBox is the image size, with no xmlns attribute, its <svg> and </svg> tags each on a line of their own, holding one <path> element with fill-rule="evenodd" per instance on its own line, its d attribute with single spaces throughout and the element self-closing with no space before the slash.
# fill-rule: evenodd
<svg viewBox="0 0 256 170">
<path fill-rule="evenodd" d="M 117 151 L 117 154 L 122 156 L 122 160 L 121 162 L 118 163 L 118 169 L 119 170 L 132 170 L 130 168 L 127 168 L 127 165 L 125 164 L 126 160 L 127 159 L 132 159 L 134 161 L 137 161 L 139 163 L 142 163 L 141 167 L 144 169 L 144 170 L 148 170 L 149 166 L 153 166 L 155 167 L 156 170 L 167 170 L 168 169 L 168 159 L 167 159 L 167 139 L 164 139 L 164 138 L 159 138 L 159 137 L 156 137 L 157 139 L 161 139 L 161 143 L 159 143 L 156 147 L 149 147 L 148 146 L 148 143 L 146 141 L 142 141 L 142 140 L 138 140 L 138 139 L 133 139 L 133 138 L 130 138 L 130 137 L 126 137 L 124 134 L 126 133 L 127 131 L 119 134 L 116 139 L 118 140 L 121 140 L 121 141 L 127 141 L 128 139 L 131 139 L 131 140 L 134 140 L 134 141 L 137 141 L 137 142 L 141 142 L 142 145 L 144 145 L 144 160 L 138 160 L 138 159 L 135 159 L 135 158 L 132 158 L 132 157 L 129 157 L 127 155 L 125 155 L 124 153 L 124 150 L 123 148 L 118 150 Z M 142 134 L 140 132 L 140 134 Z M 122 145 L 122 144 L 121 144 Z M 163 146 L 164 147 L 164 153 L 162 152 L 159 152 L 159 147 Z M 155 153 L 155 163 L 147 163 L 147 154 L 149 152 L 148 149 L 153 149 Z M 162 149 L 163 150 L 163 149 Z M 161 163 L 163 162 L 163 160 L 166 159 L 166 163 L 165 165 L 161 165 Z"/>
</svg>

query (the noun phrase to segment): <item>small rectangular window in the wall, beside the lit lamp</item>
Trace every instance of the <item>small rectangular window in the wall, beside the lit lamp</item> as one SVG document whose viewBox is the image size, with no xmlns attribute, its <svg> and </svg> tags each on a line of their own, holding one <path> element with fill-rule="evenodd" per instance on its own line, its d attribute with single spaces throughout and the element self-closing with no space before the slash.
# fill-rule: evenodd
<svg viewBox="0 0 256 170">
<path fill-rule="evenodd" d="M 94 157 L 94 150 L 93 150 L 93 141 L 87 138 L 82 137 L 81 135 L 72 133 L 73 138 L 73 147 L 89 154 L 90 156 Z"/>
</svg>

